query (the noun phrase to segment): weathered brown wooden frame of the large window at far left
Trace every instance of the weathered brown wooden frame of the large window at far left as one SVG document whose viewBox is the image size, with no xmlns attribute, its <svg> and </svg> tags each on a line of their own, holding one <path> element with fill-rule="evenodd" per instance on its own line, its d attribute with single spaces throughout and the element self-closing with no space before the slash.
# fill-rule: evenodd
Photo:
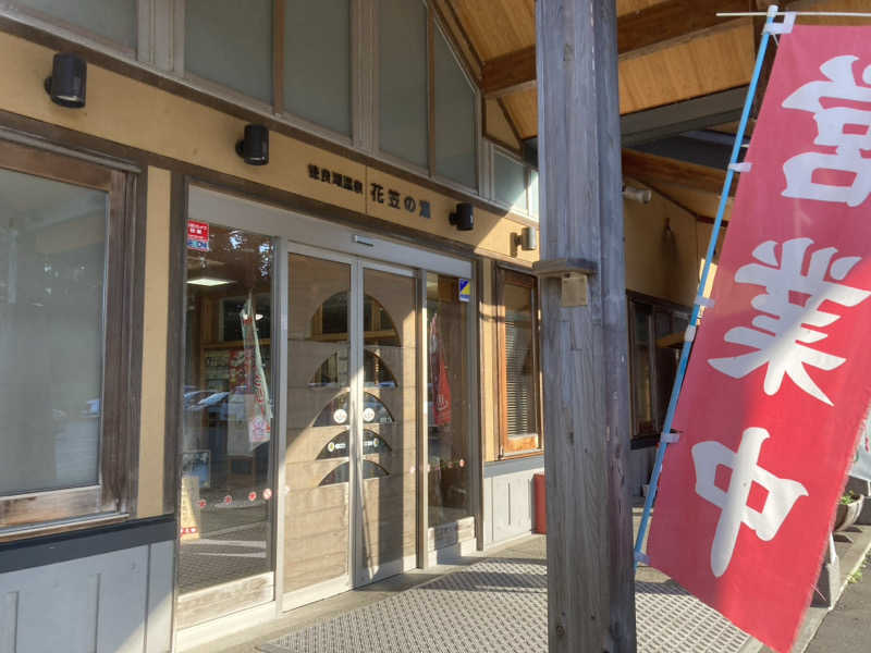
<svg viewBox="0 0 871 653">
<path fill-rule="evenodd" d="M 97 483 L 0 495 L 0 542 L 126 519 L 135 504 L 136 175 L 0 139 L 0 169 L 107 193 L 102 379 Z M 110 328 L 111 325 L 111 328 Z"/>
</svg>

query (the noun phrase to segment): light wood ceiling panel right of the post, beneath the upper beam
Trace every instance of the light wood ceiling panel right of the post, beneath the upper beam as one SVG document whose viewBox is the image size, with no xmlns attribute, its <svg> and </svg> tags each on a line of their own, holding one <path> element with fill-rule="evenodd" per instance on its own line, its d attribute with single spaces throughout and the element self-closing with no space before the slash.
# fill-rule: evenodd
<svg viewBox="0 0 871 653">
<path fill-rule="evenodd" d="M 750 82 L 755 59 L 750 21 L 703 38 L 619 62 L 619 111 L 631 113 Z"/>
</svg>

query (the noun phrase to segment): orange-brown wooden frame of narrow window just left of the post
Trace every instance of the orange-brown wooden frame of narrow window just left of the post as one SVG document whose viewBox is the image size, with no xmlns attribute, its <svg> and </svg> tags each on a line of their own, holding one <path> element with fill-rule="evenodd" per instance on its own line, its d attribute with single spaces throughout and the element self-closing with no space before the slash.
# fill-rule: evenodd
<svg viewBox="0 0 871 653">
<path fill-rule="evenodd" d="M 540 455 L 544 451 L 544 429 L 542 421 L 542 383 L 541 383 L 541 316 L 538 293 L 538 279 L 532 274 L 518 272 L 514 269 L 496 264 L 495 284 L 495 317 L 496 317 L 496 360 L 498 399 L 499 399 L 499 458 L 520 458 L 524 456 Z M 536 396 L 536 426 L 537 433 L 527 434 L 525 438 L 513 439 L 508 435 L 508 393 L 507 393 L 507 361 L 506 334 L 505 334 L 505 286 L 516 285 L 529 288 L 532 293 L 532 375 L 535 379 Z M 511 442 L 516 440 L 516 442 Z"/>
</svg>

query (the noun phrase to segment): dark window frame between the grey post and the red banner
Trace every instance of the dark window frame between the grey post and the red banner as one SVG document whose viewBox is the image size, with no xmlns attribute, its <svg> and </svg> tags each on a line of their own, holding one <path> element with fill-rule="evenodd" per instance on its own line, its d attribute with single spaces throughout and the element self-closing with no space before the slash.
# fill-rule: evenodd
<svg viewBox="0 0 871 653">
<path fill-rule="evenodd" d="M 636 417 L 638 411 L 638 397 L 636 393 L 636 384 L 635 381 L 637 375 L 640 371 L 637 368 L 637 364 L 635 361 L 635 346 L 636 346 L 636 333 L 635 333 L 635 313 L 636 313 L 636 306 L 642 305 L 650 309 L 650 316 L 647 320 L 647 332 L 648 332 L 648 342 L 650 343 L 650 350 L 648 352 L 648 365 L 650 366 L 650 402 L 651 402 L 651 412 L 653 417 L 653 424 L 654 424 L 654 433 L 647 433 L 640 432 L 636 429 Z M 628 329 L 628 340 L 629 340 L 629 409 L 630 409 L 630 446 L 631 448 L 643 448 L 648 446 L 655 446 L 660 442 L 660 436 L 662 434 L 662 428 L 664 426 L 665 414 L 661 412 L 661 405 L 662 405 L 662 397 L 660 397 L 659 393 L 659 364 L 657 360 L 657 348 L 659 345 L 657 344 L 657 331 L 655 331 L 655 313 L 657 311 L 666 312 L 671 317 L 672 321 L 674 321 L 675 317 L 684 317 L 687 322 L 689 322 L 691 309 L 683 306 L 680 304 L 675 304 L 673 301 L 668 301 L 667 299 L 661 299 L 659 297 L 652 297 L 650 295 L 645 295 L 642 293 L 636 293 L 633 291 L 626 292 L 626 316 L 627 316 L 627 323 L 629 324 Z M 677 332 L 674 332 L 677 333 Z M 680 338 L 683 342 L 683 337 Z M 671 389 L 674 384 L 674 379 L 671 380 L 668 383 L 668 387 Z"/>
</svg>

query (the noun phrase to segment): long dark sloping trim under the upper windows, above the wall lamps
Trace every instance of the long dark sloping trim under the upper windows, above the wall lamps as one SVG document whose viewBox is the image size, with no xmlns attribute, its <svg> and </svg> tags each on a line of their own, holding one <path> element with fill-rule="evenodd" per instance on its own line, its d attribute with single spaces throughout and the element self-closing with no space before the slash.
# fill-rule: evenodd
<svg viewBox="0 0 871 653">
<path fill-rule="evenodd" d="M 149 86 L 154 86 L 165 93 L 170 93 L 172 95 L 185 98 L 193 102 L 197 102 L 205 107 L 209 107 L 217 111 L 221 111 L 222 113 L 226 113 L 228 115 L 232 115 L 238 120 L 243 120 L 249 123 L 259 123 L 266 125 L 270 131 L 275 132 L 278 134 L 282 134 L 290 138 L 299 140 L 300 143 L 305 143 L 307 145 L 311 145 L 324 151 L 329 151 L 340 157 L 344 157 L 351 161 L 368 165 L 369 168 L 393 175 L 406 182 L 417 184 L 419 186 L 433 190 L 434 193 L 440 193 L 444 196 L 452 197 L 457 201 L 470 202 L 474 206 L 483 209 L 486 211 L 495 213 L 496 215 L 507 215 L 508 213 L 508 211 L 505 211 L 504 208 L 493 205 L 482 199 L 478 195 L 463 193 L 451 186 L 440 184 L 439 182 L 436 182 L 430 177 L 416 175 L 403 168 L 364 155 L 363 152 L 359 152 L 351 147 L 339 145 L 336 143 L 328 140 L 327 138 L 306 132 L 299 127 L 294 127 L 274 116 L 268 116 L 262 113 L 253 111 L 250 109 L 246 109 L 241 104 L 219 98 L 205 90 L 193 88 L 192 86 L 183 83 L 182 81 L 168 77 L 162 74 L 158 74 L 156 72 L 143 67 L 142 65 L 136 65 L 128 61 L 110 57 L 109 54 L 100 52 L 99 50 L 95 50 L 93 48 L 83 46 L 82 44 L 64 39 L 63 37 L 58 36 L 56 34 L 45 32 L 42 29 L 33 27 L 30 25 L 26 25 L 24 23 L 19 23 L 17 21 L 14 21 L 13 19 L 10 19 L 8 16 L 0 16 L 0 32 L 5 32 L 13 36 L 24 38 L 37 45 L 50 48 L 52 50 L 74 52 L 84 58 L 90 65 L 97 65 L 108 71 L 112 71 L 119 75 L 124 75 L 125 77 L 130 77 L 137 82 L 148 84 Z M 47 70 L 46 74 L 48 75 L 49 72 L 50 71 Z M 0 122 L 3 122 L 3 116 L 5 115 L 13 115 L 13 114 L 0 111 Z M 125 146 L 121 146 L 121 148 L 126 149 L 127 151 L 135 151 L 135 148 L 130 148 Z M 172 159 L 169 159 L 167 157 L 161 157 L 159 155 L 151 155 L 151 160 L 170 161 Z M 170 167 L 168 163 L 163 163 L 162 165 L 164 168 Z M 191 165 L 192 168 L 194 167 L 193 164 L 187 164 L 187 165 Z"/>
</svg>

